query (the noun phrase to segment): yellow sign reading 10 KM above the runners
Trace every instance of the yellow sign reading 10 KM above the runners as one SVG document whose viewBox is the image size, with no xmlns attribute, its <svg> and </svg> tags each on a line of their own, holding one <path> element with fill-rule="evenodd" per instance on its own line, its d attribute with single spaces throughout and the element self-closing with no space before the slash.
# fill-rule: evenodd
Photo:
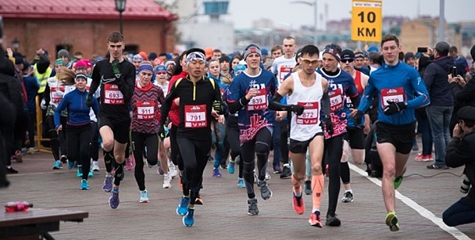
<svg viewBox="0 0 475 240">
<path fill-rule="evenodd" d="M 379 42 L 382 38 L 382 0 L 352 1 L 352 40 Z"/>
</svg>

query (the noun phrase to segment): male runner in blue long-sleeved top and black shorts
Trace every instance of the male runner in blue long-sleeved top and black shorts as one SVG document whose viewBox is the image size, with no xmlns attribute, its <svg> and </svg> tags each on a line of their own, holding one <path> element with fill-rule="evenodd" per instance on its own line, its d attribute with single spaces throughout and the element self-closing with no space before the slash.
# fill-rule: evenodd
<svg viewBox="0 0 475 240">
<path fill-rule="evenodd" d="M 363 99 L 352 117 L 361 119 L 373 96 L 380 99 L 376 123 L 376 146 L 381 158 L 382 198 L 387 210 L 386 224 L 391 231 L 399 230 L 395 213 L 395 189 L 402 182 L 407 159 L 415 139 L 415 108 L 430 103 L 428 91 L 419 73 L 399 61 L 399 39 L 393 34 L 381 40 L 381 52 L 385 60 L 382 68 L 369 77 Z M 391 80 L 391 81 L 388 81 Z"/>
</svg>

